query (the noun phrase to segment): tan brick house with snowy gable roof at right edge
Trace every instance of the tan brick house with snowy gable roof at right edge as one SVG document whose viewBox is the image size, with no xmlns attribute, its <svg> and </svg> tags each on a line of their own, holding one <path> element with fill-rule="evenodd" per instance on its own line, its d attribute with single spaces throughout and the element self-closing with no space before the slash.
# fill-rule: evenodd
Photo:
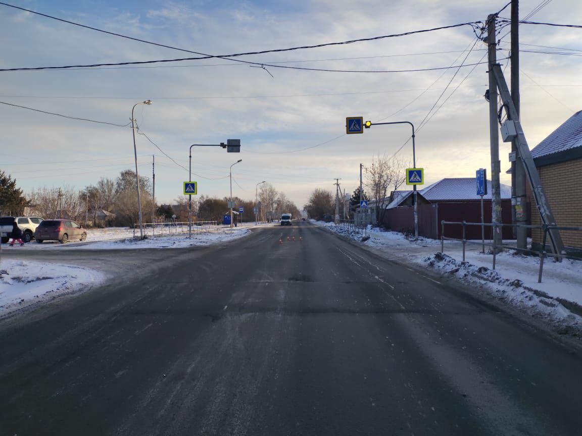
<svg viewBox="0 0 582 436">
<path fill-rule="evenodd" d="M 556 128 L 531 151 L 542 186 L 558 226 L 582 226 L 582 110 Z M 540 213 L 530 199 L 531 224 L 540 225 Z M 582 251 L 582 232 L 560 231 L 570 251 Z M 531 232 L 532 245 L 538 249 L 541 231 Z"/>
</svg>

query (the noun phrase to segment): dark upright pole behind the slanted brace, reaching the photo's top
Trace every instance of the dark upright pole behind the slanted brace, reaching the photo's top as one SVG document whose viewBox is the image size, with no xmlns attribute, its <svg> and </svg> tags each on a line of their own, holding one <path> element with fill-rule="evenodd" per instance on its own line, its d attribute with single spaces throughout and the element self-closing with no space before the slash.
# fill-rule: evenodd
<svg viewBox="0 0 582 436">
<path fill-rule="evenodd" d="M 520 120 L 520 97 L 519 97 L 519 0 L 512 0 L 511 3 L 511 97 L 517 112 L 517 119 Z M 515 160 L 511 163 L 511 185 L 512 185 L 512 217 L 514 223 L 527 224 L 527 217 L 530 213 L 527 210 L 526 197 L 526 172 L 523 168 L 519 156 L 519 146 L 517 138 L 513 138 L 511 151 L 515 153 Z M 516 228 L 517 248 L 527 248 L 527 228 Z"/>
</svg>

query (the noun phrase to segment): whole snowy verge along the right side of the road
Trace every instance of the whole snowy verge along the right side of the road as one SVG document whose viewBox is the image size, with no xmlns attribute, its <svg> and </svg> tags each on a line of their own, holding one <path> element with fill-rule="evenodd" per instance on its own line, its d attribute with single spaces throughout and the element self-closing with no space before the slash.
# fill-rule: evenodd
<svg viewBox="0 0 582 436">
<path fill-rule="evenodd" d="M 359 241 L 360 231 L 350 231 L 333 223 L 313 221 L 335 233 Z M 496 256 L 482 254 L 481 244 L 467 244 L 466 262 L 462 262 L 462 244 L 419 238 L 408 240 L 402 233 L 368 227 L 370 240 L 362 244 L 391 258 L 438 270 L 443 276 L 455 277 L 463 283 L 487 291 L 496 298 L 523 309 L 534 317 L 551 321 L 559 331 L 582 332 L 582 261 L 565 259 L 554 262 L 545 259 L 542 283 L 538 281 L 540 259 L 514 252 Z M 487 241 L 485 241 L 487 244 Z M 505 242 L 505 241 L 504 241 Z M 509 241 L 508 241 L 509 242 Z M 487 251 L 488 245 L 485 245 Z"/>
</svg>

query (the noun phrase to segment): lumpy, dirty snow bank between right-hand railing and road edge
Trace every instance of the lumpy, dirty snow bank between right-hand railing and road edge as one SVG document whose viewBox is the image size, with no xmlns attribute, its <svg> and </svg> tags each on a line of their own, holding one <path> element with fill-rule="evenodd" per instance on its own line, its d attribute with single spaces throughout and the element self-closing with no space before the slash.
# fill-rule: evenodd
<svg viewBox="0 0 582 436">
<path fill-rule="evenodd" d="M 507 253 L 503 253 L 507 254 Z M 520 256 L 523 257 L 523 256 Z M 502 261 L 501 261 L 502 262 Z M 575 262 L 575 261 L 574 261 Z M 468 284 L 477 284 L 486 287 L 487 290 L 511 305 L 518 306 L 531 316 L 544 318 L 555 324 L 560 333 L 569 333 L 570 328 L 582 331 L 582 317 L 576 315 L 570 309 L 582 309 L 575 307 L 576 302 L 568 301 L 557 296 L 549 295 L 544 291 L 524 284 L 523 277 L 517 271 L 513 278 L 503 277 L 505 274 L 492 270 L 487 266 L 477 266 L 470 262 L 460 262 L 449 255 L 435 253 L 425 257 L 422 263 L 428 267 L 440 270 L 443 275 L 455 276 Z M 580 262 L 579 262 L 580 263 Z M 552 281 L 551 287 L 560 291 L 560 284 Z M 578 288 L 577 294 L 581 294 Z M 580 295 L 577 295 L 581 298 Z"/>
</svg>

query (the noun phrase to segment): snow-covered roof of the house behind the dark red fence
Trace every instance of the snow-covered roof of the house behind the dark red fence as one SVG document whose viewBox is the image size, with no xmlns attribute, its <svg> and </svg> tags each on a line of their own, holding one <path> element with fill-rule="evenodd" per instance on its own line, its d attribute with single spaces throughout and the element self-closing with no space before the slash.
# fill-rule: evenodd
<svg viewBox="0 0 582 436">
<path fill-rule="evenodd" d="M 491 199 L 491 180 L 487 181 L 487 195 L 483 198 Z M 428 201 L 439 200 L 479 200 L 481 197 L 477 195 L 477 186 L 474 177 L 455 177 L 443 178 L 437 183 L 433 183 L 420 191 Z M 501 198 L 511 198 L 511 187 L 501 184 Z"/>
</svg>

